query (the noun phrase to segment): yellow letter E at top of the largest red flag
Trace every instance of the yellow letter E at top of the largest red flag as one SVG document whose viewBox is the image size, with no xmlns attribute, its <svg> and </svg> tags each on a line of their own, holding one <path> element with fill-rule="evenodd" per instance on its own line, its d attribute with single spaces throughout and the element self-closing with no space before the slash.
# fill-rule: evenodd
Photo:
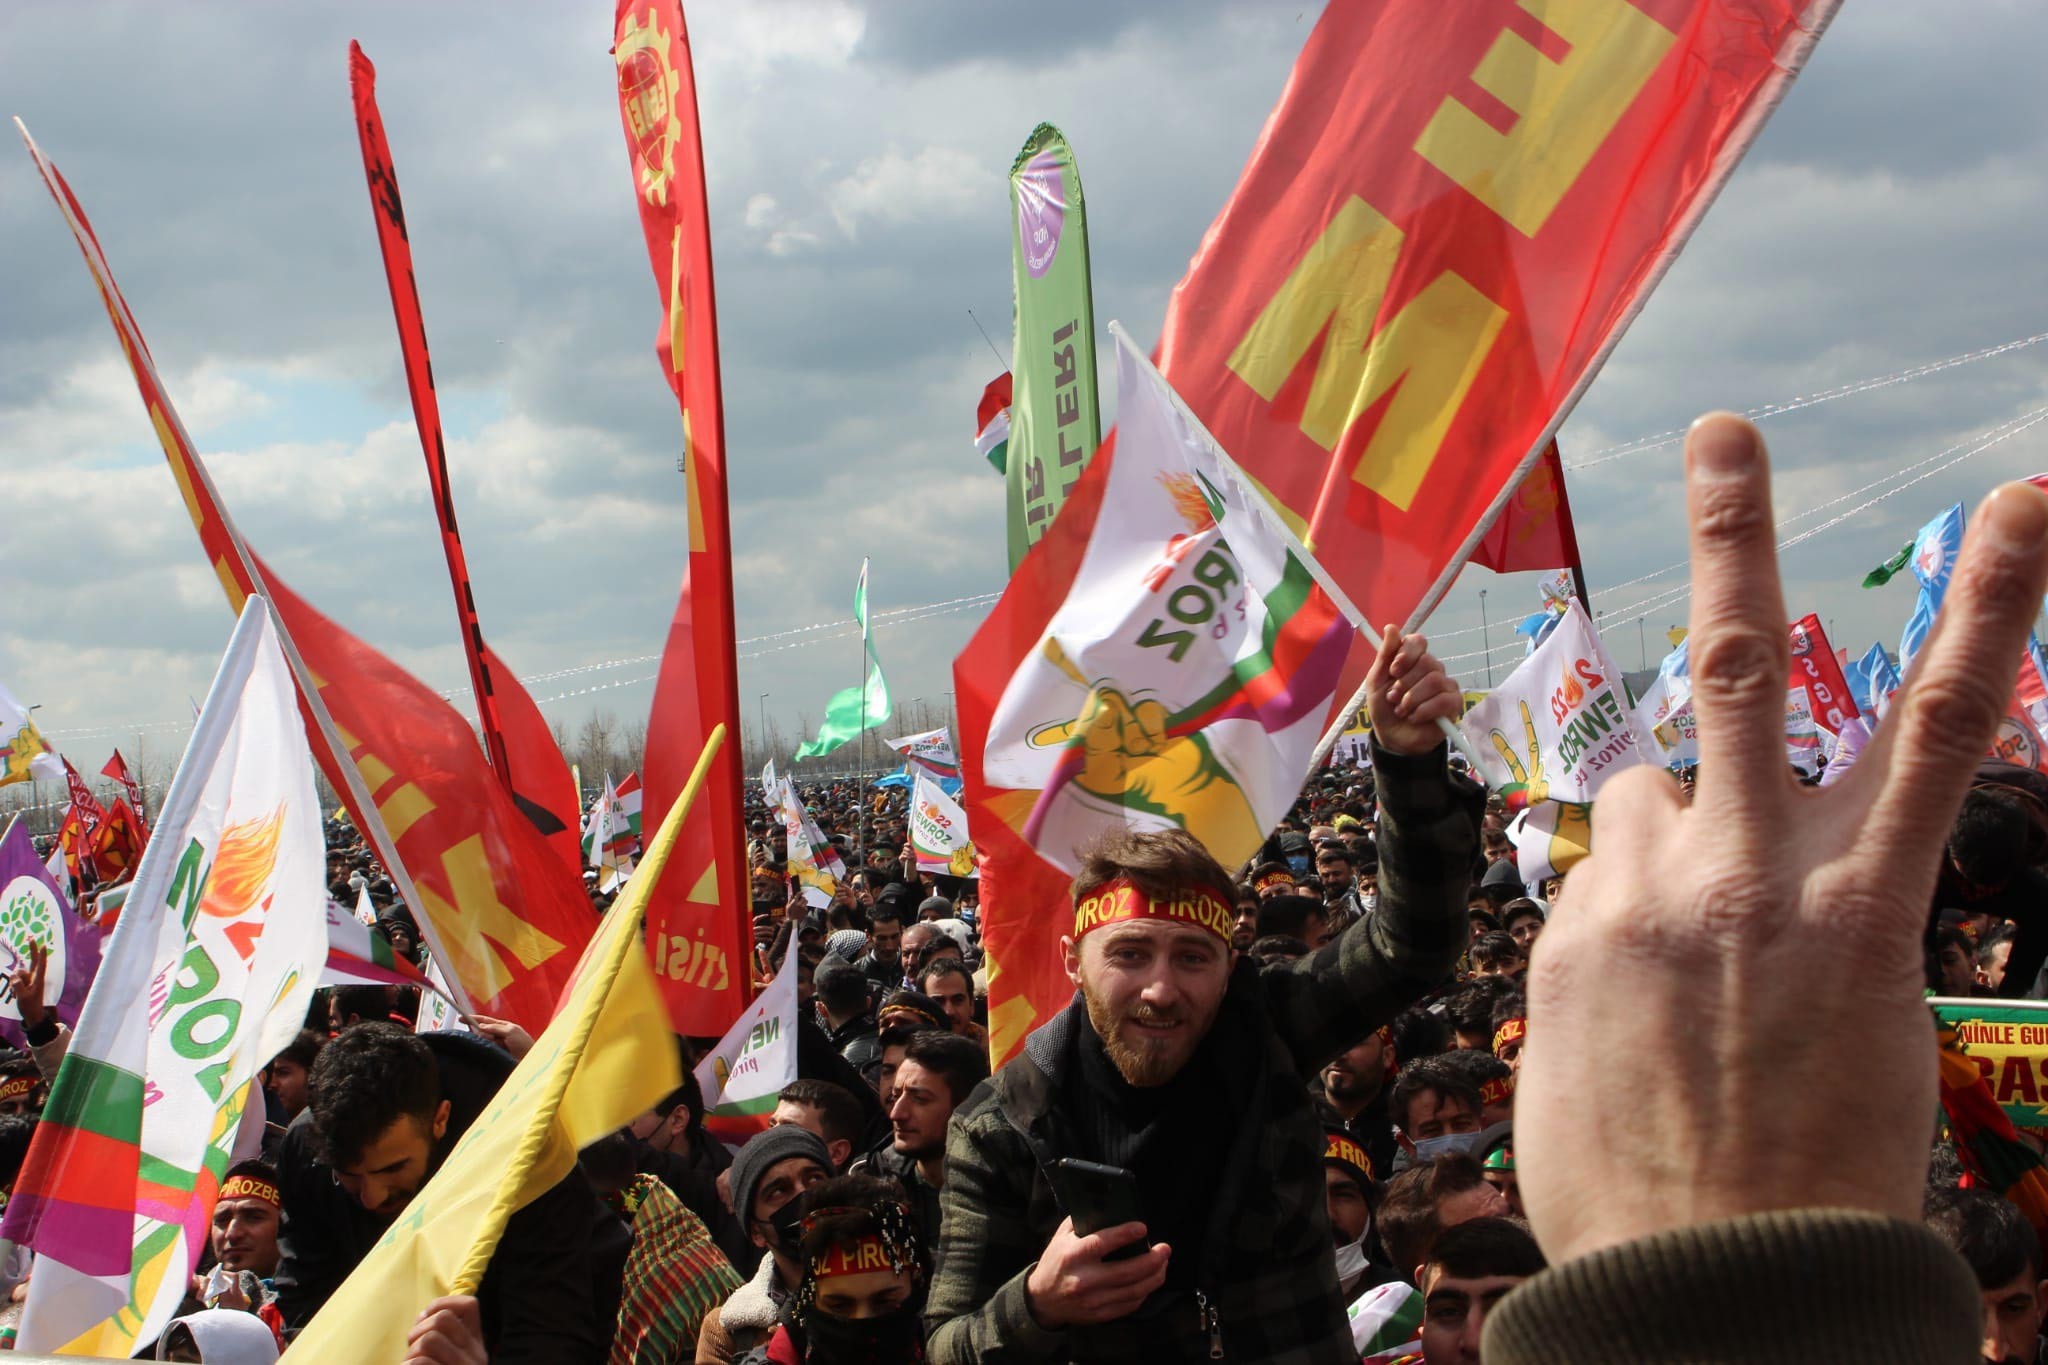
<svg viewBox="0 0 2048 1365">
<path fill-rule="evenodd" d="M 1534 237 L 1677 35 L 1628 0 L 1522 0 L 1522 8 L 1571 51 L 1552 59 L 1503 29 L 1473 84 L 1513 111 L 1513 127 L 1497 133 L 1444 96 L 1415 153 Z"/>
</svg>

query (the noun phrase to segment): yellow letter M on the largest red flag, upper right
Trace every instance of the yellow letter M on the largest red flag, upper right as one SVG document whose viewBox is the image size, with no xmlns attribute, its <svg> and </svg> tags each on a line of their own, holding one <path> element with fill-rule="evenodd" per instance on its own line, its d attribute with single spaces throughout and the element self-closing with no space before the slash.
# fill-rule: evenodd
<svg viewBox="0 0 2048 1365">
<path fill-rule="evenodd" d="M 1229 366 L 1270 403 L 1323 338 L 1300 430 L 1325 450 L 1335 450 L 1352 424 L 1391 393 L 1352 479 L 1405 512 L 1507 309 L 1444 270 L 1374 332 L 1401 244 L 1399 227 L 1350 196 L 1260 311 Z"/>
</svg>

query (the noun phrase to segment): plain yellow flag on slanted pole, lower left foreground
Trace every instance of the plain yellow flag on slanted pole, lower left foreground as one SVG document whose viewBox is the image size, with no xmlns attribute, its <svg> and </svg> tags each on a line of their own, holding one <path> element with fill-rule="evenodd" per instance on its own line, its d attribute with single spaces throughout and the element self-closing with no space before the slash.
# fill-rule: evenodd
<svg viewBox="0 0 2048 1365">
<path fill-rule="evenodd" d="M 592 935 L 561 1009 L 532 1052 L 313 1316 L 287 1359 L 403 1359 L 406 1334 L 422 1308 L 444 1293 L 475 1293 L 512 1214 L 553 1189 L 578 1150 L 682 1085 L 668 1007 L 641 948 L 641 919 L 723 743 L 719 726 L 639 872 Z"/>
</svg>

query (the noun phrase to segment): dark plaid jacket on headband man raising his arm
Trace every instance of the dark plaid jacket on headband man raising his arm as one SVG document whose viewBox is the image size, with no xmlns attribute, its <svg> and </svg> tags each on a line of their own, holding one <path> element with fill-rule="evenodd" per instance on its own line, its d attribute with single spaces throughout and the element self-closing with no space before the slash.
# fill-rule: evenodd
<svg viewBox="0 0 2048 1365">
<path fill-rule="evenodd" d="M 1444 749 L 1374 751 L 1380 817 L 1378 913 L 1294 964 L 1237 964 L 1210 1029 L 1225 1062 L 1217 1121 L 1229 1160 L 1190 1199 L 1208 1205 L 1198 1291 L 1155 1293 L 1137 1314 L 1049 1332 L 1024 1279 L 1063 1212 L 1044 1166 L 1075 1152 L 1090 1091 L 1071 1064 L 1079 1001 L 1032 1031 L 1024 1052 L 952 1117 L 944 1230 L 926 1304 L 930 1359 L 1276 1361 L 1356 1365 L 1323 1195 L 1321 1128 L 1305 1076 L 1450 978 L 1466 943 L 1464 894 L 1483 794 Z M 1176 1252 L 1180 1254 L 1180 1252 Z"/>
</svg>

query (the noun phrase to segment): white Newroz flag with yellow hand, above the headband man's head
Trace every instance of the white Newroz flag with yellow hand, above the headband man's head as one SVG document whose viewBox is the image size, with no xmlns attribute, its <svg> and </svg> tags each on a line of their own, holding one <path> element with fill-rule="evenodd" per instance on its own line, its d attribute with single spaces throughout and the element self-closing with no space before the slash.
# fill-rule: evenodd
<svg viewBox="0 0 2048 1365">
<path fill-rule="evenodd" d="M 1110 829 L 1186 829 L 1225 866 L 1309 776 L 1356 634 L 1257 493 L 1118 332 L 1116 452 L 1087 551 L 989 724 L 989 786 L 1079 868 Z"/>
</svg>

